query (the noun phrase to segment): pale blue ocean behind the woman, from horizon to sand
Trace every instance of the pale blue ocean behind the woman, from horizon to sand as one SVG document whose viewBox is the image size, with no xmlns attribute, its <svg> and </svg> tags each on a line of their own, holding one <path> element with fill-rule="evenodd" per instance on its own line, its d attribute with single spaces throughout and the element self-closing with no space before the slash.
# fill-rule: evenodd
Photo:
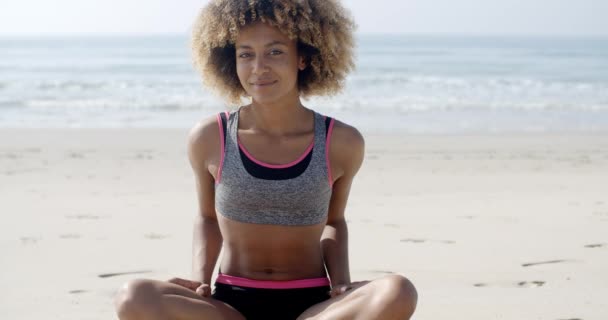
<svg viewBox="0 0 608 320">
<path fill-rule="evenodd" d="M 608 38 L 360 35 L 343 93 L 365 132 L 608 132 Z M 227 107 L 185 35 L 0 38 L 0 128 L 189 128 Z"/>
</svg>

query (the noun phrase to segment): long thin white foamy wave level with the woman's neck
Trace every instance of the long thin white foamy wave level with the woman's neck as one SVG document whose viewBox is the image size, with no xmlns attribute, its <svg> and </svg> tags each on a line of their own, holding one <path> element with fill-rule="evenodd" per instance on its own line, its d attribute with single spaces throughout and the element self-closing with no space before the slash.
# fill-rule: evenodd
<svg viewBox="0 0 608 320">
<path fill-rule="evenodd" d="M 608 101 L 597 103 L 548 101 L 501 101 L 496 99 L 437 98 L 428 96 L 355 96 L 343 95 L 334 99 L 311 98 L 307 100 L 313 108 L 323 106 L 340 111 L 381 111 L 392 113 L 419 112 L 482 112 L 492 110 L 526 111 L 608 111 Z M 32 110 L 53 110 L 66 115 L 75 110 L 146 110 L 151 112 L 179 112 L 221 108 L 226 103 L 220 99 L 175 98 L 175 99 L 28 99 L 23 101 L 0 101 L 0 107 L 20 107 Z"/>
</svg>

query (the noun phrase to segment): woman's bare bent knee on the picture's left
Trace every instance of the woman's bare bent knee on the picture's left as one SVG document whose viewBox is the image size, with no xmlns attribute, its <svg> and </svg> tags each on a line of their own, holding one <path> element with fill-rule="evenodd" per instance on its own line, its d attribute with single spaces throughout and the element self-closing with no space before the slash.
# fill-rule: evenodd
<svg viewBox="0 0 608 320">
<path fill-rule="evenodd" d="M 146 319 L 146 312 L 158 302 L 159 293 L 149 280 L 132 280 L 125 283 L 114 297 L 116 314 L 121 320 Z"/>
</svg>

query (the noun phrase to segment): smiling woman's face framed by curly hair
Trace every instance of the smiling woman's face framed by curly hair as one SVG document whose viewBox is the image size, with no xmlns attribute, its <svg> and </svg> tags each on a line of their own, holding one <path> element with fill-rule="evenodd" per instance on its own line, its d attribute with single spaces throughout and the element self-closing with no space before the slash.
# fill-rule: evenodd
<svg viewBox="0 0 608 320">
<path fill-rule="evenodd" d="M 298 96 L 298 70 L 306 67 L 295 40 L 256 22 L 243 28 L 236 41 L 236 72 L 245 91 L 260 103 Z"/>
</svg>

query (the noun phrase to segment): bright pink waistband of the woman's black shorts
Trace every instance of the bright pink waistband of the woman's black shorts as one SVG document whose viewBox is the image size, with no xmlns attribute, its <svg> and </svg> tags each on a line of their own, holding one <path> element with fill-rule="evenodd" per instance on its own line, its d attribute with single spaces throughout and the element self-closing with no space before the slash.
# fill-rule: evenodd
<svg viewBox="0 0 608 320">
<path fill-rule="evenodd" d="M 217 282 L 232 286 L 259 288 L 259 289 L 298 289 L 329 286 L 328 278 L 311 278 L 299 280 L 253 280 L 220 273 Z"/>
</svg>

